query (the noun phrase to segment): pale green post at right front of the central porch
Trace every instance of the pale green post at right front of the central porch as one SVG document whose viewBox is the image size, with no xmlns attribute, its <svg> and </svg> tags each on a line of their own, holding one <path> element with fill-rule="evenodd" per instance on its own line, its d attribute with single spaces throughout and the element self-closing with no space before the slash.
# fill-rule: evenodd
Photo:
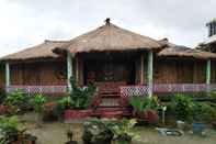
<svg viewBox="0 0 216 144">
<path fill-rule="evenodd" d="M 147 68 L 147 82 L 148 82 L 148 97 L 152 97 L 152 79 L 154 79 L 154 53 L 148 52 L 148 68 Z"/>
</svg>

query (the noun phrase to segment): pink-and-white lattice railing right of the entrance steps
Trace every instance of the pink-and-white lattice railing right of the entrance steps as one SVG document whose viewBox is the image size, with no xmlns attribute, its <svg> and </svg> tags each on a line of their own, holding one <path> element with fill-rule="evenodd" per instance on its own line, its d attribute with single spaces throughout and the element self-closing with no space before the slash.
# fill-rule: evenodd
<svg viewBox="0 0 216 144">
<path fill-rule="evenodd" d="M 122 86 L 122 97 L 144 96 L 148 92 L 148 86 Z M 202 92 L 216 90 L 216 84 L 156 84 L 152 87 L 154 92 Z"/>
</svg>

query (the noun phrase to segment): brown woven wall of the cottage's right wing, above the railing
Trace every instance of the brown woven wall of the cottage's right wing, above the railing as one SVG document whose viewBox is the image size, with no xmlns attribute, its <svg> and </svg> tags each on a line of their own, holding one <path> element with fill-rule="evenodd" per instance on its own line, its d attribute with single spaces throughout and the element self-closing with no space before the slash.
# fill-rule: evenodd
<svg viewBox="0 0 216 144">
<path fill-rule="evenodd" d="M 156 84 L 203 84 L 205 62 L 156 59 L 154 81 Z"/>
</svg>

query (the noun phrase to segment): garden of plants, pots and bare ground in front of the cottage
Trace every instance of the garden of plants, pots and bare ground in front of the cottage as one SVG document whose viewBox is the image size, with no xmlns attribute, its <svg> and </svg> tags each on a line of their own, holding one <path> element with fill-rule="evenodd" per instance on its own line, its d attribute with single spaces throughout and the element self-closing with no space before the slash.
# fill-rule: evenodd
<svg viewBox="0 0 216 144">
<path fill-rule="evenodd" d="M 214 144 L 216 93 L 124 99 L 130 115 L 98 118 L 96 88 L 68 96 L 0 93 L 0 144 Z"/>
</svg>

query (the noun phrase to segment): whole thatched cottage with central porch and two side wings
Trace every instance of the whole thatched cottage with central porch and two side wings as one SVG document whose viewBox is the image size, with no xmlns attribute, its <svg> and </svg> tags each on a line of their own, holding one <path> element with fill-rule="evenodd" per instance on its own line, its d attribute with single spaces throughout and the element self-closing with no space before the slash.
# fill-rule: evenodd
<svg viewBox="0 0 216 144">
<path fill-rule="evenodd" d="M 93 81 L 100 97 L 214 90 L 216 54 L 105 24 L 70 41 L 44 43 L 1 58 L 7 92 L 64 93 L 69 78 Z M 113 97 L 112 97 L 113 98 Z"/>
</svg>

